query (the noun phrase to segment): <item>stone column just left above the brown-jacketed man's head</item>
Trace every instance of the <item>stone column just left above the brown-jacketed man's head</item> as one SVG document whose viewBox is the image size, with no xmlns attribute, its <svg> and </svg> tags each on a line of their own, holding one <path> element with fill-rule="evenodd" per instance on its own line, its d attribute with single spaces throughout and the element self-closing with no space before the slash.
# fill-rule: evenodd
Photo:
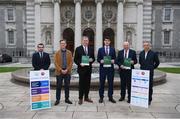
<svg viewBox="0 0 180 119">
<path fill-rule="evenodd" d="M 59 49 L 59 40 L 61 38 L 61 17 L 60 17 L 60 3 L 61 0 L 53 0 L 54 2 L 54 52 Z"/>
</svg>

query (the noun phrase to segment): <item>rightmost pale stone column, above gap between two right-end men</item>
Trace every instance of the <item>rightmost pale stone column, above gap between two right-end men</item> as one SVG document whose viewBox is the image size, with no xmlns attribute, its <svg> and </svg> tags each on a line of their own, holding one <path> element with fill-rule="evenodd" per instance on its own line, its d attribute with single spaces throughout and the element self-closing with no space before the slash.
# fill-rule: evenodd
<svg viewBox="0 0 180 119">
<path fill-rule="evenodd" d="M 137 3 L 137 42 L 136 50 L 143 48 L 143 1 Z"/>
</svg>

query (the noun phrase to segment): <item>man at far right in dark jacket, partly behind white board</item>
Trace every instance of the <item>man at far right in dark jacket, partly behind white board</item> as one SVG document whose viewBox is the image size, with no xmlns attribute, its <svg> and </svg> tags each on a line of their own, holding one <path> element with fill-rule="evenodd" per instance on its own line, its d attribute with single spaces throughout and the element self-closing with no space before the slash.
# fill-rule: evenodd
<svg viewBox="0 0 180 119">
<path fill-rule="evenodd" d="M 156 69 L 160 62 L 157 53 L 150 49 L 150 43 L 145 41 L 143 43 L 144 50 L 139 54 L 140 69 L 150 71 L 150 82 L 149 82 L 149 105 L 152 101 L 153 94 L 153 76 L 154 69 Z"/>
</svg>

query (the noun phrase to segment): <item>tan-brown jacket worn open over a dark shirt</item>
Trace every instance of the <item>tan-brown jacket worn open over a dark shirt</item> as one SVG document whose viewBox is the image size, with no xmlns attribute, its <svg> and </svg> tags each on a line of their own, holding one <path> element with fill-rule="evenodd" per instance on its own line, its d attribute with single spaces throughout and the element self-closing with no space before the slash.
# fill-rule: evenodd
<svg viewBox="0 0 180 119">
<path fill-rule="evenodd" d="M 67 61 L 67 74 L 71 74 L 73 58 L 71 51 L 66 49 L 66 61 Z M 62 52 L 58 50 L 54 55 L 54 65 L 55 65 L 55 73 L 56 75 L 62 74 Z"/>
</svg>

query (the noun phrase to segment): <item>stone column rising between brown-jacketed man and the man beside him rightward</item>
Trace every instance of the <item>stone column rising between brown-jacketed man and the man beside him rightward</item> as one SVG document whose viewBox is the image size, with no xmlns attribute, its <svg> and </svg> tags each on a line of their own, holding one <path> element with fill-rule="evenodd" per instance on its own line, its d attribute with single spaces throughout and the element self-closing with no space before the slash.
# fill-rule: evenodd
<svg viewBox="0 0 180 119">
<path fill-rule="evenodd" d="M 74 0 L 75 3 L 75 48 L 81 44 L 81 3 L 82 0 Z"/>
</svg>

